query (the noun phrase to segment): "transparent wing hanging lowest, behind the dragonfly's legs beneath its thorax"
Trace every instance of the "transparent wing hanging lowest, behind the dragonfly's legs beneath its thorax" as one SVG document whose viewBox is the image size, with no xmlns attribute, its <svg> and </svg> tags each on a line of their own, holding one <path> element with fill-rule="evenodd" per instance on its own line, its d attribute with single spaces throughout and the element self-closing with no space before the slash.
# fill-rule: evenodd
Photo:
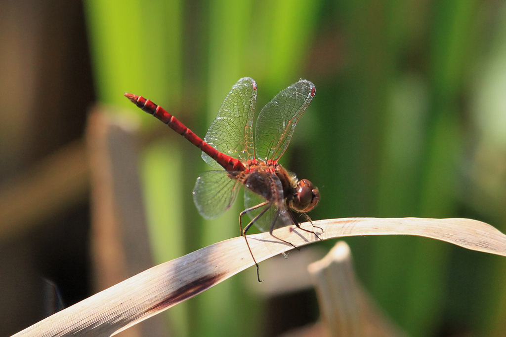
<svg viewBox="0 0 506 337">
<path fill-rule="evenodd" d="M 259 205 L 263 202 L 265 202 L 265 199 L 263 197 L 256 194 L 255 192 L 252 192 L 248 188 L 244 189 L 244 206 L 246 209 Z M 260 207 L 258 209 L 248 212 L 249 218 L 253 220 L 258 214 L 260 214 L 260 212 L 264 210 L 264 208 L 265 207 Z M 284 207 L 284 204 L 281 204 L 281 208 L 278 208 L 278 206 L 272 204 L 272 206 L 260 218 L 258 218 L 255 221 L 255 226 L 261 232 L 268 232 L 271 229 L 274 218 L 276 217 L 276 212 L 278 210 L 280 212 L 274 224 L 274 228 L 279 228 L 293 224 L 289 214 L 287 213 L 287 210 Z M 245 225 L 246 224 L 243 223 L 243 226 Z"/>
</svg>

